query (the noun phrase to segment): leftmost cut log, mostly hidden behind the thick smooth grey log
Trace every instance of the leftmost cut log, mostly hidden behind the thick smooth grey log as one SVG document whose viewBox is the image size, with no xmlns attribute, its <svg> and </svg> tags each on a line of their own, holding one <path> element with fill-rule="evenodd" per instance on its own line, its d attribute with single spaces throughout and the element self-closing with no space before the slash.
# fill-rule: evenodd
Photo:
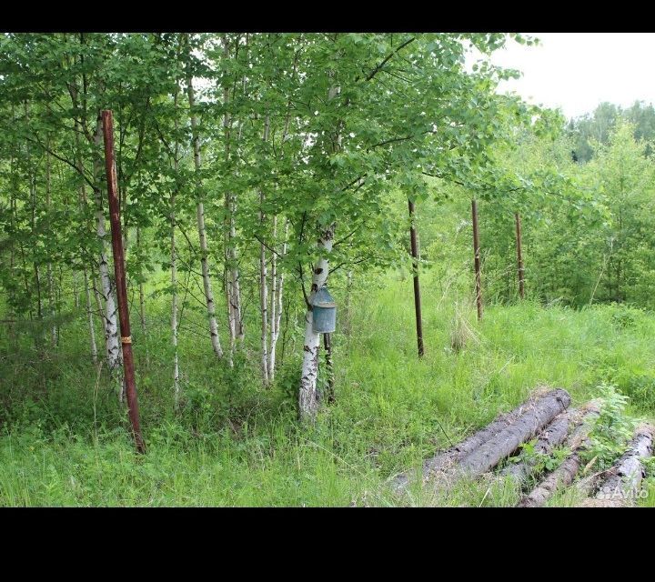
<svg viewBox="0 0 655 582">
<path fill-rule="evenodd" d="M 445 472 L 447 469 L 454 467 L 463 457 L 466 457 L 469 455 L 469 453 L 484 445 L 489 441 L 489 439 L 499 435 L 499 433 L 501 433 L 504 429 L 508 428 L 509 426 L 513 426 L 520 416 L 524 415 L 529 410 L 532 410 L 534 406 L 538 406 L 539 402 L 542 400 L 548 400 L 550 402 L 554 395 L 560 395 L 562 393 L 563 395 L 566 395 L 568 406 L 570 398 L 564 390 L 535 392 L 526 402 L 520 406 L 517 406 L 510 412 L 500 415 L 492 423 L 480 429 L 470 437 L 464 439 L 458 445 L 438 453 L 435 457 L 429 458 L 423 464 L 423 483 L 426 483 L 431 477 L 434 477 L 438 473 Z M 514 449 L 512 449 L 510 452 L 513 452 L 513 450 Z M 416 481 L 417 479 L 417 471 L 408 471 L 398 475 L 397 477 L 394 477 L 391 481 L 391 487 L 396 491 L 401 492 L 405 490 L 411 482 Z"/>
</svg>

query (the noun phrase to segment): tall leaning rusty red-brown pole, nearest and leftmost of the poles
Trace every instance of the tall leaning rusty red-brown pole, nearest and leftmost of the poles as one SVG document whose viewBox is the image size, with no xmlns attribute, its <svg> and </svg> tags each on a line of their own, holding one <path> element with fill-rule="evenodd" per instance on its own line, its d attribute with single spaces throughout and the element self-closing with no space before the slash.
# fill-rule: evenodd
<svg viewBox="0 0 655 582">
<path fill-rule="evenodd" d="M 109 223 L 112 233 L 112 251 L 114 254 L 114 274 L 116 276 L 116 298 L 118 300 L 118 320 L 123 346 L 123 367 L 125 369 L 125 386 L 127 407 L 132 423 L 132 432 L 139 453 L 146 452 L 141 427 L 139 426 L 138 401 L 136 399 L 136 382 L 134 357 L 132 356 L 132 336 L 130 335 L 129 312 L 127 311 L 127 286 L 125 274 L 125 256 L 123 237 L 121 236 L 120 206 L 118 204 L 118 185 L 116 180 L 116 161 L 114 159 L 114 119 L 111 110 L 102 112 L 103 134 L 105 136 L 105 167 L 107 179 L 107 197 L 109 198 Z"/>
</svg>

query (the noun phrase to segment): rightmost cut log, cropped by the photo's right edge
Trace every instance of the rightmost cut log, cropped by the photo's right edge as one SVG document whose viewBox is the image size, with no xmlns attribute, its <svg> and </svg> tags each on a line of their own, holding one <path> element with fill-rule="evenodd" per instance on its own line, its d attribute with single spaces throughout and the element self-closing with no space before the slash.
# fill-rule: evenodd
<svg viewBox="0 0 655 582">
<path fill-rule="evenodd" d="M 630 441 L 630 448 L 610 469 L 610 477 L 605 479 L 596 499 L 593 500 L 601 503 L 586 502 L 583 505 L 622 506 L 637 497 L 641 479 L 644 477 L 641 459 L 652 455 L 654 433 L 653 426 L 638 426 Z"/>
</svg>

